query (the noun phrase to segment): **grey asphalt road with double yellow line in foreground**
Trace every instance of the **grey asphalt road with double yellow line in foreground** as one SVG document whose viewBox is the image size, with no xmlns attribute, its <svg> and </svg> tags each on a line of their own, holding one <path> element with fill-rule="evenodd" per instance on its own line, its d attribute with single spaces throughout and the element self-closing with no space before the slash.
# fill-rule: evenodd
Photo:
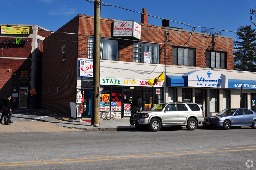
<svg viewBox="0 0 256 170">
<path fill-rule="evenodd" d="M 256 169 L 255 132 L 3 133 L 0 169 Z"/>
</svg>

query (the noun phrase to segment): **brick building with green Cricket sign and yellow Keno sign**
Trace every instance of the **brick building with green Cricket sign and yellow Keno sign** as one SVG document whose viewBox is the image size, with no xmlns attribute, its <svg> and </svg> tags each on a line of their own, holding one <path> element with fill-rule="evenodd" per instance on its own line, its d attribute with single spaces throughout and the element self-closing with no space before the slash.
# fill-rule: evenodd
<svg viewBox="0 0 256 170">
<path fill-rule="evenodd" d="M 0 100 L 12 95 L 13 108 L 41 108 L 43 40 L 51 33 L 40 30 L 46 29 L 1 24 Z"/>
</svg>

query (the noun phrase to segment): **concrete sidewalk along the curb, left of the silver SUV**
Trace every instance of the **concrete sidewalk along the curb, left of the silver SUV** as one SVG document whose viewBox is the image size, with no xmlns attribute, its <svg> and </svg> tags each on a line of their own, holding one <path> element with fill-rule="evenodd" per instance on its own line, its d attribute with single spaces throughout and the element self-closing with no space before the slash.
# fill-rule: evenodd
<svg viewBox="0 0 256 170">
<path fill-rule="evenodd" d="M 69 118 L 66 118 L 68 116 L 62 116 L 57 117 L 56 119 L 59 121 L 54 122 L 13 120 L 11 125 L 0 124 L 0 133 L 116 131 L 124 128 L 126 130 L 135 130 L 135 126 L 129 123 L 129 117 L 122 119 L 100 119 L 100 125 L 94 127 L 91 126 L 91 118 L 83 118 L 79 122 L 72 122 L 68 121 Z"/>
</svg>

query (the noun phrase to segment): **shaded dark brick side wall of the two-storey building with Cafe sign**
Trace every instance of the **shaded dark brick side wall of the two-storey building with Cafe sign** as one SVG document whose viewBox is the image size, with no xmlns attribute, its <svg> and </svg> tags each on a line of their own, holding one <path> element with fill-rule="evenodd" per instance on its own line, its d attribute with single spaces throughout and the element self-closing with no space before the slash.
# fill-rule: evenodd
<svg viewBox="0 0 256 170">
<path fill-rule="evenodd" d="M 59 32 L 78 33 L 78 17 Z M 44 40 L 42 108 L 70 113 L 70 102 L 76 101 L 77 40 L 76 34 L 54 33 Z M 66 44 L 66 57 L 62 61 L 62 45 Z M 58 93 L 57 93 L 58 88 Z"/>
</svg>

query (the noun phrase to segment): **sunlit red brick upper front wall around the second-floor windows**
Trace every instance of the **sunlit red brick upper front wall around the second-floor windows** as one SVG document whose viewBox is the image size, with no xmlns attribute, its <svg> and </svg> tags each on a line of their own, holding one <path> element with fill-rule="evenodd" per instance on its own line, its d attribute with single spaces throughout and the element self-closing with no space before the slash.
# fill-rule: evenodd
<svg viewBox="0 0 256 170">
<path fill-rule="evenodd" d="M 79 33 L 93 36 L 93 16 L 79 15 Z M 100 36 L 111 37 L 111 24 L 113 19 L 101 18 Z M 160 44 L 160 64 L 165 64 L 165 27 L 141 24 L 141 41 Z M 169 29 L 169 40 L 172 45 L 184 45 L 191 32 Z M 88 36 L 79 36 L 78 57 L 87 56 Z M 133 61 L 133 41 L 119 41 L 119 60 Z M 227 69 L 233 70 L 233 39 L 219 36 L 209 36 L 201 33 L 193 33 L 184 47 L 196 49 L 196 67 L 206 67 L 206 50 L 227 52 Z M 167 64 L 172 65 L 172 47 L 167 45 Z"/>
</svg>

